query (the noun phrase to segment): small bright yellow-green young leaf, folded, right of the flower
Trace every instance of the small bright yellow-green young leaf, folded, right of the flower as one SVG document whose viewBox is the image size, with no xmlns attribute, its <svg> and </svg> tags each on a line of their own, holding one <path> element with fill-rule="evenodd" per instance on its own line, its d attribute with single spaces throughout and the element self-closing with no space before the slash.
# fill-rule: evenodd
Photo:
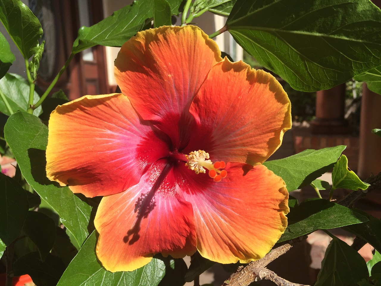
<svg viewBox="0 0 381 286">
<path fill-rule="evenodd" d="M 345 155 L 341 155 L 332 171 L 332 189 L 337 188 L 349 189 L 357 191 L 359 189 L 366 190 L 370 186 L 364 183 L 359 177 L 348 168 L 348 159 Z"/>
</svg>

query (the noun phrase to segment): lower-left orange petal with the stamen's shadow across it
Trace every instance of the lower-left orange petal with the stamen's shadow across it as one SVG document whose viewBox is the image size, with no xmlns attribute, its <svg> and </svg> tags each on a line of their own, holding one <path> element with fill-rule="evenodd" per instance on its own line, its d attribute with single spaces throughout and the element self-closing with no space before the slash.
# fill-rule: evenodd
<svg viewBox="0 0 381 286">
<path fill-rule="evenodd" d="M 138 185 L 106 196 L 99 204 L 96 253 L 107 270 L 135 270 L 158 252 L 179 258 L 196 251 L 192 206 L 182 198 L 172 167 L 162 171 L 168 168 L 163 166 L 155 164 Z M 161 179 L 157 188 L 155 182 Z"/>
</svg>

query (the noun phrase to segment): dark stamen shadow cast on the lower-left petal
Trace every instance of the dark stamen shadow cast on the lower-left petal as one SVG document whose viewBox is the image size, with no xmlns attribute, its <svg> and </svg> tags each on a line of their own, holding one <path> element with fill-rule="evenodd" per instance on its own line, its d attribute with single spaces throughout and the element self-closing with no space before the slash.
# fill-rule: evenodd
<svg viewBox="0 0 381 286">
<path fill-rule="evenodd" d="M 134 244 L 139 240 L 140 223 L 142 219 L 146 219 L 150 212 L 154 210 L 156 206 L 155 193 L 159 189 L 170 169 L 171 164 L 166 164 L 162 170 L 162 173 L 159 175 L 156 182 L 152 186 L 151 190 L 148 193 L 142 193 L 138 200 L 135 202 L 134 212 L 136 213 L 136 220 L 133 227 L 127 231 L 127 235 L 123 238 L 125 243 Z M 132 237 L 130 238 L 130 236 Z"/>
</svg>

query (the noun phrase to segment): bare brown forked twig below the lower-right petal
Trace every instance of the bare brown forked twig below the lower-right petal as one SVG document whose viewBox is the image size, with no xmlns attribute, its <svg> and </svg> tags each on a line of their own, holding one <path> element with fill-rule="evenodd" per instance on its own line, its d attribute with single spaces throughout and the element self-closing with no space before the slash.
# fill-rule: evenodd
<svg viewBox="0 0 381 286">
<path fill-rule="evenodd" d="M 291 283 L 283 278 L 280 278 L 274 272 L 268 270 L 266 266 L 273 260 L 277 259 L 280 255 L 285 254 L 293 245 L 300 243 L 305 238 L 306 237 L 303 236 L 300 238 L 291 239 L 288 243 L 285 242 L 284 244 L 274 248 L 262 259 L 250 262 L 246 267 L 239 267 L 235 273 L 230 275 L 228 280 L 224 281 L 223 286 L 247 286 L 251 282 L 259 281 L 261 279 L 268 279 L 275 283 L 281 283 L 277 285 L 282 286 L 304 286 L 301 284 Z"/>
</svg>

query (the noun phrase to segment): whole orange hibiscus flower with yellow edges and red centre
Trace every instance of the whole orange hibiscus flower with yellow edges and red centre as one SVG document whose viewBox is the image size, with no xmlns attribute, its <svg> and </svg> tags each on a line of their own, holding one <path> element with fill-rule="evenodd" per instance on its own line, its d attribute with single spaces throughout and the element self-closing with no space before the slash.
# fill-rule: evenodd
<svg viewBox="0 0 381 286">
<path fill-rule="evenodd" d="M 46 171 L 103 196 L 96 254 L 112 272 L 161 253 L 260 259 L 287 226 L 288 192 L 263 163 L 291 127 L 264 71 L 221 58 L 198 27 L 138 32 L 115 60 L 121 94 L 83 96 L 49 121 Z"/>
</svg>

